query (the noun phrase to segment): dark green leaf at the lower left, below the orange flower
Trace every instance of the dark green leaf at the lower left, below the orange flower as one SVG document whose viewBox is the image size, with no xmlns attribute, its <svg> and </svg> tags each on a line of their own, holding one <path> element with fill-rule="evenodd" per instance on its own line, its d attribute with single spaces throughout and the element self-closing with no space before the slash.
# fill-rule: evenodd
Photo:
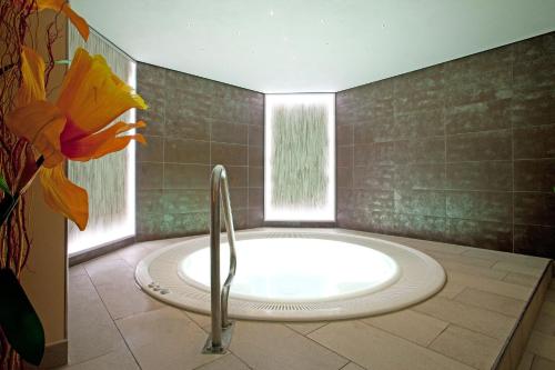
<svg viewBox="0 0 555 370">
<path fill-rule="evenodd" d="M 0 269 L 0 327 L 23 360 L 39 366 L 44 354 L 44 329 L 11 269 Z"/>
</svg>

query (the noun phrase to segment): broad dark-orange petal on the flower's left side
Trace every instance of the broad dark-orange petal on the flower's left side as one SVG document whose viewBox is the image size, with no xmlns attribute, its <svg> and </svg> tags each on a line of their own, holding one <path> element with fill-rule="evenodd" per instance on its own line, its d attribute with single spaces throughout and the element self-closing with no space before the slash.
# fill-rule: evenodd
<svg viewBox="0 0 555 370">
<path fill-rule="evenodd" d="M 54 167 L 63 160 L 60 134 L 65 126 L 65 117 L 58 107 L 43 100 L 33 101 L 9 112 L 6 124 L 44 156 L 44 167 Z"/>
</svg>

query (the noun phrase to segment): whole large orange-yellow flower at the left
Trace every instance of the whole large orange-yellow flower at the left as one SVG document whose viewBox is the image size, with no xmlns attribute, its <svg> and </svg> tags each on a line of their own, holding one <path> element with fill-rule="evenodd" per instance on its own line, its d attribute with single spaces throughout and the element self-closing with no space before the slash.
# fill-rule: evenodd
<svg viewBox="0 0 555 370">
<path fill-rule="evenodd" d="M 110 123 L 129 109 L 145 109 L 147 104 L 111 72 L 102 57 L 91 57 L 83 49 L 77 50 L 56 104 L 44 100 L 42 59 L 23 47 L 21 60 L 23 83 L 7 124 L 44 157 L 40 179 L 47 203 L 84 230 L 87 191 L 68 180 L 63 162 L 100 158 L 125 148 L 131 140 L 144 143 L 141 134 L 120 136 L 144 122 Z"/>
</svg>

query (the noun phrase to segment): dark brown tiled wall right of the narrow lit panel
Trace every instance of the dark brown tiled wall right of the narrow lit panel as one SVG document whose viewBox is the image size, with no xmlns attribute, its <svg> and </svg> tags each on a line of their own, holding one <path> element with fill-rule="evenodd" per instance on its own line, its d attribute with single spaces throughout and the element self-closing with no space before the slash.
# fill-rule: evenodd
<svg viewBox="0 0 555 370">
<path fill-rule="evenodd" d="M 341 91 L 337 224 L 555 257 L 554 107 L 555 32 Z"/>
</svg>

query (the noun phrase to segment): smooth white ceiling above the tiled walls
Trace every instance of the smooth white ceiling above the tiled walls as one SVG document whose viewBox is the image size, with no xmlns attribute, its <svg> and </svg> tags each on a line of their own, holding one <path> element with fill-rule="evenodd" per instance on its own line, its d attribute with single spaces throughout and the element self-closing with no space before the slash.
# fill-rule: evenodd
<svg viewBox="0 0 555 370">
<path fill-rule="evenodd" d="M 138 61 L 334 92 L 555 30 L 555 0 L 73 0 Z"/>
</svg>

